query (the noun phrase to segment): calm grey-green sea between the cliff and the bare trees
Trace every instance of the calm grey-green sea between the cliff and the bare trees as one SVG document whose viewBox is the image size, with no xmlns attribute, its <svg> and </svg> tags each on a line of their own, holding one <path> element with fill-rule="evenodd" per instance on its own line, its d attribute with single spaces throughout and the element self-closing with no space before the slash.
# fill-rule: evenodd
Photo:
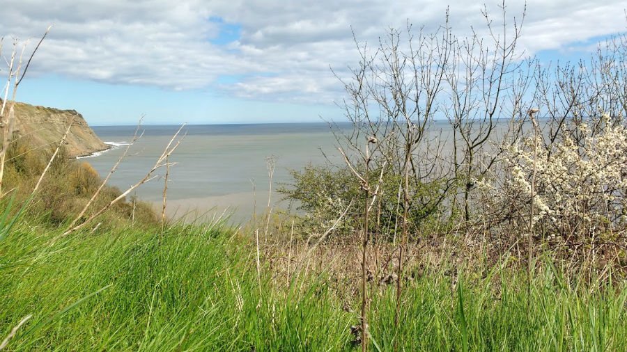
<svg viewBox="0 0 627 352">
<path fill-rule="evenodd" d="M 339 125 L 350 127 L 348 124 Z M 132 140 L 135 127 L 93 127 L 102 141 L 122 144 L 95 157 L 84 159 L 103 177 L 109 173 Z M 109 184 L 125 190 L 155 164 L 177 126 L 146 126 L 144 135 L 132 145 Z M 336 140 L 324 123 L 263 124 L 263 125 L 192 125 L 170 161 L 168 182 L 168 213 L 183 214 L 233 213 L 233 219 L 243 221 L 268 205 L 270 179 L 266 159 L 275 161 L 273 188 L 290 182 L 288 170 L 302 168 L 308 163 L 325 163 L 323 152 L 339 161 Z M 160 170 L 158 175 L 163 175 Z M 142 200 L 160 207 L 164 180 L 153 179 L 137 189 Z M 272 205 L 279 199 L 272 194 Z M 279 205 L 285 207 L 283 203 Z M 196 210 L 196 212 L 193 212 Z"/>
</svg>

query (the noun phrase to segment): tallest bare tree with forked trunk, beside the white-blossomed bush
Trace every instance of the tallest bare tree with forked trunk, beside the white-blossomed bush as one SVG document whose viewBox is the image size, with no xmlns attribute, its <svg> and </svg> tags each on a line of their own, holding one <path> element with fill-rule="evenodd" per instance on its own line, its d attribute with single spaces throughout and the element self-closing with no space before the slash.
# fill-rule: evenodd
<svg viewBox="0 0 627 352">
<path fill-rule="evenodd" d="M 474 183 L 488 173 L 502 152 L 498 141 L 513 143 L 520 136 L 529 109 L 524 98 L 537 67 L 533 59 L 524 60 L 516 51 L 526 8 L 520 22 L 513 19 L 511 29 L 504 2 L 501 10 L 500 31 L 488 10 L 483 10 L 487 41 L 474 31 L 470 38 L 454 39 L 454 59 L 447 72 L 449 98 L 442 110 L 453 130 L 453 163 L 465 221 L 471 220 Z"/>
</svg>

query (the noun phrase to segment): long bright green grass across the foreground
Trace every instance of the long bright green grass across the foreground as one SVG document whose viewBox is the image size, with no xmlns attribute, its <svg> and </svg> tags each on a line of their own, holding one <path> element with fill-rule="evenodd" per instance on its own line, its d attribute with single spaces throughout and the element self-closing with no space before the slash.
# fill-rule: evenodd
<svg viewBox="0 0 627 352">
<path fill-rule="evenodd" d="M 28 219 L 28 216 L 25 216 Z M 0 241 L 0 333 L 27 314 L 9 350 L 340 351 L 357 349 L 354 312 L 325 276 L 286 287 L 227 227 L 175 225 L 59 235 L 18 221 Z M 461 271 L 460 271 L 461 272 Z M 458 282 L 454 282 L 458 280 Z M 394 327 L 394 285 L 369 310 L 371 351 L 621 351 L 624 282 L 591 290 L 547 266 L 485 278 L 430 272 L 407 282 Z M 348 291 L 348 290 L 347 290 Z M 359 298 L 353 298 L 359 307 Z"/>
</svg>

